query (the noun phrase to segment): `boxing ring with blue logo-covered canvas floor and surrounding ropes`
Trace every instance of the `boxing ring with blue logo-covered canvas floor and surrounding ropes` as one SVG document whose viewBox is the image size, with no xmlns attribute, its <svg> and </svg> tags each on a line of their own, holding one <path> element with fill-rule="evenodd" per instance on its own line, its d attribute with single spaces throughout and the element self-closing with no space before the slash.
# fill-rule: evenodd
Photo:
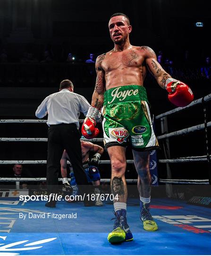
<svg viewBox="0 0 211 256">
<path fill-rule="evenodd" d="M 211 155 L 209 148 L 208 128 L 211 121 L 207 120 L 207 102 L 211 94 L 193 101 L 184 108 L 176 108 L 155 117 L 160 121 L 161 135 L 159 141 L 164 141 L 165 159 L 159 159 L 159 165 L 166 169 L 166 178 L 159 179 L 165 186 L 166 197 L 153 198 L 151 213 L 158 224 L 158 231 L 149 232 L 142 228 L 139 220 L 139 200 L 129 198 L 127 204 L 127 219 L 134 241 L 111 245 L 107 235 L 112 229 L 113 204 L 104 201 L 104 206 L 84 207 L 82 202 L 68 204 L 59 201 L 54 209 L 47 209 L 43 201 L 19 201 L 18 196 L 27 194 L 27 190 L 3 191 L 0 198 L 0 253 L 12 255 L 210 255 L 211 254 L 211 208 L 198 206 L 173 198 L 174 184 L 193 186 L 203 185 L 207 190 L 211 184 Z M 189 110 L 193 106 L 203 106 L 204 122 L 173 132 L 168 130 L 167 117 L 180 111 Z M 80 120 L 83 122 L 83 120 Z M 0 120 L 5 123 L 39 123 L 46 120 Z M 192 132 L 204 131 L 205 155 L 170 158 L 169 138 L 188 136 Z M 102 138 L 94 138 L 93 143 L 101 143 Z M 2 137 L 0 142 L 47 142 L 47 138 L 15 138 Z M 173 179 L 171 164 L 177 163 L 207 163 L 206 179 Z M 133 160 L 127 160 L 133 164 Z M 0 160 L 0 165 L 11 164 L 46 164 L 46 160 Z M 101 165 L 110 164 L 110 160 L 101 160 Z M 1 182 L 45 181 L 45 178 L 7 178 L 1 177 Z M 101 179 L 101 183 L 109 183 L 110 179 Z M 136 179 L 127 180 L 128 184 L 137 183 Z M 159 186 L 160 186 L 159 185 Z M 134 185 L 135 186 L 135 185 Z M 7 193 L 8 196 L 5 196 Z M 16 195 L 14 195 L 16 194 Z M 12 197 L 10 197 L 12 195 Z M 17 197 L 15 197 L 17 196 Z M 21 214 L 25 214 L 25 219 Z M 49 213 L 49 218 L 46 218 Z M 52 218 L 52 216 L 71 215 L 71 218 Z M 75 215 L 74 215 L 75 214 Z M 30 218 L 36 216 L 36 218 Z M 37 217 L 39 216 L 39 218 Z M 75 217 L 76 218 L 75 218 Z M 43 218 L 42 218 L 43 217 Z"/>
</svg>

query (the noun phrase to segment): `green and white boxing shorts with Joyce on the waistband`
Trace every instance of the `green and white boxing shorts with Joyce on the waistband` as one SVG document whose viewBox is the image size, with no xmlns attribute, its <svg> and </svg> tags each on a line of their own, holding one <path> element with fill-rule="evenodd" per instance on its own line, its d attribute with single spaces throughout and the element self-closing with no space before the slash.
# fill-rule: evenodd
<svg viewBox="0 0 211 256">
<path fill-rule="evenodd" d="M 128 142 L 138 151 L 159 148 L 147 102 L 143 86 L 126 85 L 105 91 L 101 110 L 105 148 L 127 146 Z"/>
</svg>

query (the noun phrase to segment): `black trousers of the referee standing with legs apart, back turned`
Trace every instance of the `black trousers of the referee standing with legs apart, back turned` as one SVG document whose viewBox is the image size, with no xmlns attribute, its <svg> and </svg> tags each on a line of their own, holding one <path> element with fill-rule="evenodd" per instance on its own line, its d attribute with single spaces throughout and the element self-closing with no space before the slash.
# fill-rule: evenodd
<svg viewBox="0 0 211 256">
<path fill-rule="evenodd" d="M 48 129 L 47 188 L 48 194 L 58 192 L 60 159 L 66 149 L 73 166 L 76 183 L 82 193 L 87 192 L 88 181 L 82 163 L 80 133 L 75 124 L 51 125 Z M 81 186 L 80 186 L 81 185 Z"/>
</svg>

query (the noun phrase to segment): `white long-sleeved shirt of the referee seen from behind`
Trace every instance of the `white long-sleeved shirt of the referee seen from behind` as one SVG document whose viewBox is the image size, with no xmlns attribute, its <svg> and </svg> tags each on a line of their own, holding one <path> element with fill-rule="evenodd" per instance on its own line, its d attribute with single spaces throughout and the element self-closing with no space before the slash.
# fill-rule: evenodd
<svg viewBox="0 0 211 256">
<path fill-rule="evenodd" d="M 86 116 L 90 106 L 83 96 L 62 89 L 46 97 L 37 108 L 35 115 L 37 118 L 43 118 L 48 114 L 48 126 L 62 123 L 76 124 L 79 129 L 80 112 Z"/>
</svg>

